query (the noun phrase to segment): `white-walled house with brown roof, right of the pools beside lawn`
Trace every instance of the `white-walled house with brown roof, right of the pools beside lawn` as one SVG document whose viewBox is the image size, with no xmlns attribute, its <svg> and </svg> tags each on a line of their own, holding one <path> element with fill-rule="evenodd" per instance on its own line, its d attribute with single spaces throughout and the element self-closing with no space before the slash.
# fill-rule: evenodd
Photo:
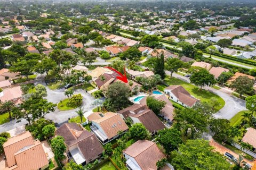
<svg viewBox="0 0 256 170">
<path fill-rule="evenodd" d="M 180 85 L 172 85 L 164 89 L 165 94 L 170 96 L 171 100 L 185 107 L 194 106 L 199 100 L 189 94 L 189 92 Z"/>
</svg>

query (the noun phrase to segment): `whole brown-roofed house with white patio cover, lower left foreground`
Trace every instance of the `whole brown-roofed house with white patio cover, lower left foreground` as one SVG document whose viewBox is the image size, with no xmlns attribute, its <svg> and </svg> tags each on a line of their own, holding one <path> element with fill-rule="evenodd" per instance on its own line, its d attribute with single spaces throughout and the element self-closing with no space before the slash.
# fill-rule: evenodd
<svg viewBox="0 0 256 170">
<path fill-rule="evenodd" d="M 95 134 L 85 130 L 80 124 L 62 124 L 55 133 L 65 139 L 67 155 L 78 165 L 93 162 L 103 152 L 103 147 Z"/>
</svg>

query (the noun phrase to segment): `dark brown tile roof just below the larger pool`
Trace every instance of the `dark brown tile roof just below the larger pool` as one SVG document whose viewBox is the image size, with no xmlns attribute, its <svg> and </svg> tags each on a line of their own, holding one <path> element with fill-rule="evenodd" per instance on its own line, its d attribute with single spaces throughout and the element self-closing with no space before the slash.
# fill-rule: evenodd
<svg viewBox="0 0 256 170">
<path fill-rule="evenodd" d="M 150 132 L 156 132 L 158 130 L 164 129 L 165 125 L 159 120 L 156 114 L 150 109 L 145 109 L 138 112 L 137 114 L 130 113 L 128 116 L 136 117 L 145 126 L 145 128 Z"/>
</svg>

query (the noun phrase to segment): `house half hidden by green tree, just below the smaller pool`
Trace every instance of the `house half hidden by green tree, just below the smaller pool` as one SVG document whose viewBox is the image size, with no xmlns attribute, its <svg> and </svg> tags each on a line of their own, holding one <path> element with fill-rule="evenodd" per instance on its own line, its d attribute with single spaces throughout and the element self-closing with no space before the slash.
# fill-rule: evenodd
<svg viewBox="0 0 256 170">
<path fill-rule="evenodd" d="M 153 94 L 151 96 L 155 97 L 155 99 L 157 99 L 157 100 L 165 101 L 166 105 L 162 109 L 161 114 L 159 114 L 159 116 L 163 117 L 166 121 L 172 123 L 173 113 L 174 113 L 175 108 L 172 106 L 171 101 L 169 99 L 167 99 L 167 97 L 165 95 Z M 147 104 L 146 100 L 147 100 L 147 96 L 140 100 L 140 104 L 146 105 Z"/>
</svg>

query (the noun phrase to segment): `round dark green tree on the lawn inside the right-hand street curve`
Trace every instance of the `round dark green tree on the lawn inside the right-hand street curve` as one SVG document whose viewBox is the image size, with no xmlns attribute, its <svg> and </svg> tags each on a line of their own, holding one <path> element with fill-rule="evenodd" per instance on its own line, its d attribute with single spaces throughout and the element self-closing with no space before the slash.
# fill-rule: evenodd
<svg viewBox="0 0 256 170">
<path fill-rule="evenodd" d="M 199 71 L 192 74 L 190 82 L 199 86 L 200 90 L 204 86 L 213 86 L 216 83 L 214 75 L 210 74 L 206 69 L 199 69 Z"/>
</svg>

